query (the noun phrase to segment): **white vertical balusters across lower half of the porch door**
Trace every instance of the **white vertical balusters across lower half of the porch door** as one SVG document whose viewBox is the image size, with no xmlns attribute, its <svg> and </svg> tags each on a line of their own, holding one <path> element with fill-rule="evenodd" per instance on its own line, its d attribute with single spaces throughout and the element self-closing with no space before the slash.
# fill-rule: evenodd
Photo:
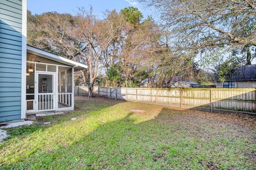
<svg viewBox="0 0 256 170">
<path fill-rule="evenodd" d="M 50 111 L 54 107 L 54 95 L 49 94 L 38 94 L 38 111 Z"/>
</svg>

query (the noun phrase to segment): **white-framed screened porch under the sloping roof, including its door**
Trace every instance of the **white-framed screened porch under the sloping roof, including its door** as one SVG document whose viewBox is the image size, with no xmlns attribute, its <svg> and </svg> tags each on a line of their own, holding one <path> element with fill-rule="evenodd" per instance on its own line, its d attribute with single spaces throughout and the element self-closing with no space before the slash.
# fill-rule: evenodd
<svg viewBox="0 0 256 170">
<path fill-rule="evenodd" d="M 27 113 L 73 109 L 73 75 L 73 67 L 28 53 Z"/>
</svg>

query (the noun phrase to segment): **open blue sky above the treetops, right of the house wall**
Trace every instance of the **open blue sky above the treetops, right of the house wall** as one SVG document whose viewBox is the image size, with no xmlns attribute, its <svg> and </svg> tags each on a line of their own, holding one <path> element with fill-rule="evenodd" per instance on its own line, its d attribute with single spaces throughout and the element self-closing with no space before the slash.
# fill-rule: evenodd
<svg viewBox="0 0 256 170">
<path fill-rule="evenodd" d="M 102 18 L 103 12 L 106 10 L 116 9 L 119 12 L 122 8 L 128 6 L 134 6 L 139 8 L 143 16 L 147 18 L 147 15 L 153 15 L 156 20 L 156 15 L 150 8 L 145 8 L 142 4 L 135 0 L 28 0 L 27 7 L 33 14 L 41 14 L 44 12 L 56 11 L 59 13 L 70 13 L 75 15 L 77 7 L 85 7 L 90 9 L 90 5 L 93 7 L 93 14 Z"/>
</svg>

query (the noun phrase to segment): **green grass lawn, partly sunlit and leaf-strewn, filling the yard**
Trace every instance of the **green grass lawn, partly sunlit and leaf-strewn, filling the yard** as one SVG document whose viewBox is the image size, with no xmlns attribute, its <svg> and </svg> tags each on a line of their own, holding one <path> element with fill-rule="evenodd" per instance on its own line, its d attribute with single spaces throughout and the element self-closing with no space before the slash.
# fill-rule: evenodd
<svg viewBox="0 0 256 170">
<path fill-rule="evenodd" d="M 0 169 L 256 169 L 255 116 L 103 98 L 75 106 L 9 129 Z"/>
</svg>

